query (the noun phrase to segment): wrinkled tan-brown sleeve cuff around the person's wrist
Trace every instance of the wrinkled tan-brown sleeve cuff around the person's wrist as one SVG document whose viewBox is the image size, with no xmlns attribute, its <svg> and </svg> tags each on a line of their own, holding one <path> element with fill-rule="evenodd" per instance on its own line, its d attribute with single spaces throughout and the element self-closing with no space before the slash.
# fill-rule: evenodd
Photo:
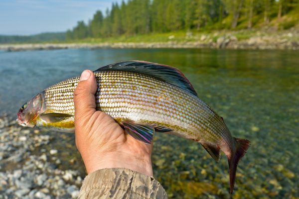
<svg viewBox="0 0 299 199">
<path fill-rule="evenodd" d="M 167 199 L 153 177 L 125 168 L 101 169 L 84 179 L 79 199 Z"/>
</svg>

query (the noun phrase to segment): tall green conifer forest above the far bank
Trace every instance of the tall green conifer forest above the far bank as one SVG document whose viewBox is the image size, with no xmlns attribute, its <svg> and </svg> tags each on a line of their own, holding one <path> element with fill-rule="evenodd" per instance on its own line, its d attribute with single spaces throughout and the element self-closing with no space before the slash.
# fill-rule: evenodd
<svg viewBox="0 0 299 199">
<path fill-rule="evenodd" d="M 259 20 L 267 25 L 293 9 L 299 0 L 128 0 L 97 11 L 86 24 L 66 33 L 67 39 L 100 38 L 188 29 L 252 28 Z"/>
</svg>

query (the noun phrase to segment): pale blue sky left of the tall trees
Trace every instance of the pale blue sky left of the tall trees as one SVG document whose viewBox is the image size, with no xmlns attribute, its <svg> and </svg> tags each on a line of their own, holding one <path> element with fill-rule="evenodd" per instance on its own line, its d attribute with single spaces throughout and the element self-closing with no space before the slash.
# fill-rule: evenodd
<svg viewBox="0 0 299 199">
<path fill-rule="evenodd" d="M 0 0 L 0 35 L 62 32 L 122 0 Z"/>
</svg>

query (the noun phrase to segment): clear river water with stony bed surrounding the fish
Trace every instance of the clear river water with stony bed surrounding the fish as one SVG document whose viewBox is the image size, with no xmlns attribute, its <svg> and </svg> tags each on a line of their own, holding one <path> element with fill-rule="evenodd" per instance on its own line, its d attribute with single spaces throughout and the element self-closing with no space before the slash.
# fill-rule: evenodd
<svg viewBox="0 0 299 199">
<path fill-rule="evenodd" d="M 211 49 L 1 51 L 0 114 L 16 114 L 36 93 L 84 69 L 125 60 L 171 65 L 224 117 L 235 137 L 252 142 L 239 163 L 235 198 L 299 197 L 298 55 Z M 56 138 L 51 147 L 64 150 L 62 143 L 74 145 L 73 135 L 60 136 L 63 140 Z M 69 150 L 72 154 L 75 147 Z M 169 198 L 229 198 L 228 165 L 222 155 L 217 163 L 196 142 L 158 134 L 152 154 L 154 176 Z"/>
</svg>

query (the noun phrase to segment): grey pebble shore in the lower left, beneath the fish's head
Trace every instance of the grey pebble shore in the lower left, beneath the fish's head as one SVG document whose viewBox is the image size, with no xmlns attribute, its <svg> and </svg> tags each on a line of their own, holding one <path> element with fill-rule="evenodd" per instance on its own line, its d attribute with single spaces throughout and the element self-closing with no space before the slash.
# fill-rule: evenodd
<svg viewBox="0 0 299 199">
<path fill-rule="evenodd" d="M 0 117 L 0 196 L 3 199 L 78 198 L 84 175 L 61 168 L 63 152 L 50 148 L 55 136 L 21 128 L 7 115 Z M 72 146 L 73 151 L 75 146 Z M 72 163 L 73 162 L 73 163 Z M 84 168 L 83 165 L 81 167 Z M 0 198 L 2 198 L 0 197 Z"/>
</svg>

